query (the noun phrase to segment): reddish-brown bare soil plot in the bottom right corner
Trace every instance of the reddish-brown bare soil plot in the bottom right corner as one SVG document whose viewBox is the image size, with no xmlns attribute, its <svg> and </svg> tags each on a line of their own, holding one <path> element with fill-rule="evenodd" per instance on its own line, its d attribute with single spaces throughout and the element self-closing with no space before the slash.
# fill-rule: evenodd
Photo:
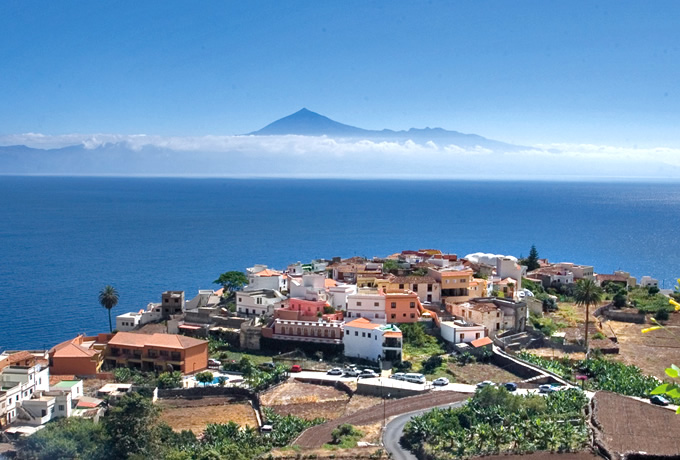
<svg viewBox="0 0 680 460">
<path fill-rule="evenodd" d="M 593 398 L 593 426 L 596 441 L 612 455 L 677 456 L 680 452 L 680 417 L 626 396 L 598 391 Z"/>
</svg>

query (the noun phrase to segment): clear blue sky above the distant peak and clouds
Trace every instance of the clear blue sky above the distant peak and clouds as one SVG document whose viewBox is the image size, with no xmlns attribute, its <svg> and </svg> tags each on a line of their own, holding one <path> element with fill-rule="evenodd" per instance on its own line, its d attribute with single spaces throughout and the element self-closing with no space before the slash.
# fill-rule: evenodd
<svg viewBox="0 0 680 460">
<path fill-rule="evenodd" d="M 0 3 L 0 135 L 370 129 L 680 147 L 675 1 Z"/>
</svg>

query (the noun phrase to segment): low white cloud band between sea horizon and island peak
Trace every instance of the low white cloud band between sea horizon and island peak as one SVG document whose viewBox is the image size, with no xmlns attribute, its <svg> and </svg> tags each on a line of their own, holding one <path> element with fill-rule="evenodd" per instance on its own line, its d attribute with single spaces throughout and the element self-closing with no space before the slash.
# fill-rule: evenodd
<svg viewBox="0 0 680 460">
<path fill-rule="evenodd" d="M 48 161 L 54 157 L 55 162 L 58 160 L 54 152 L 63 154 L 78 148 L 85 163 L 88 156 L 91 157 L 89 160 L 93 167 L 95 159 L 110 162 L 116 157 L 119 160 L 124 158 L 132 168 L 128 172 L 132 175 L 680 179 L 680 149 L 665 147 L 541 144 L 504 151 L 436 141 L 332 138 L 325 135 L 183 137 L 26 133 L 0 136 L 0 146 L 16 145 L 40 149 Z M 109 158 L 105 158 L 103 152 Z M 71 161 L 75 161 L 73 155 L 75 153 L 69 157 Z M 135 162 L 146 166 L 134 168 Z M 89 168 L 82 173 L 105 174 L 110 171 L 110 165 L 106 163 L 103 161 L 100 172 Z M 170 167 L 173 164 L 193 164 L 195 167 L 173 169 Z M 209 170 L 206 165 L 210 165 Z M 114 169 L 114 174 L 126 174 L 121 168 Z M 81 173 L 63 169 L 57 171 Z M 8 170 L 0 162 L 0 173 L 30 172 Z"/>
</svg>

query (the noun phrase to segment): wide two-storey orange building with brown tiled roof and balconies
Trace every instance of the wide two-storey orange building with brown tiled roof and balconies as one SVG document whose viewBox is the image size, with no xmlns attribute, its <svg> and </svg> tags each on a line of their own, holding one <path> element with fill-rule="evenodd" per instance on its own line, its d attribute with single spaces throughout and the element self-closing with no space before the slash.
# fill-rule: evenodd
<svg viewBox="0 0 680 460">
<path fill-rule="evenodd" d="M 105 363 L 107 367 L 190 374 L 208 368 L 208 342 L 177 334 L 119 332 L 109 340 Z"/>
</svg>

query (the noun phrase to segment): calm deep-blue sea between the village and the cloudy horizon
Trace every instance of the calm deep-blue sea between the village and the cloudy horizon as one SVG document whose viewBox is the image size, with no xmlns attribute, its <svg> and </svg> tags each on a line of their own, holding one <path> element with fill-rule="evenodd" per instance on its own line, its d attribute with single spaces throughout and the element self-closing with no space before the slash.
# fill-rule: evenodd
<svg viewBox="0 0 680 460">
<path fill-rule="evenodd" d="M 0 350 L 108 329 L 227 270 L 440 248 L 680 276 L 680 185 L 0 177 Z"/>
</svg>

